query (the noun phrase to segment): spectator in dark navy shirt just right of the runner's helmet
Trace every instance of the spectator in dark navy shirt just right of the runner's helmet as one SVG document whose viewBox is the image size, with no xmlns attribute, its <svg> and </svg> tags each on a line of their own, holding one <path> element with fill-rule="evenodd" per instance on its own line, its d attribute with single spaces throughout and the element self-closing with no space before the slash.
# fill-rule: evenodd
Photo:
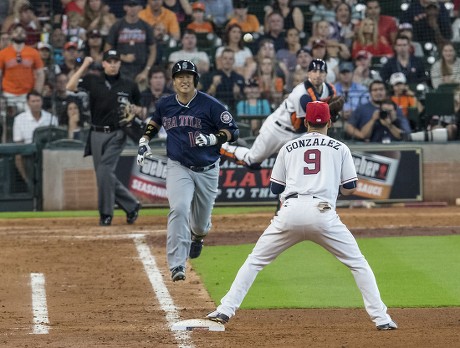
<svg viewBox="0 0 460 348">
<path fill-rule="evenodd" d="M 204 74 L 200 79 L 199 89 L 212 95 L 225 104 L 235 114 L 236 102 L 241 98 L 244 77 L 233 70 L 235 52 L 225 48 L 222 52 L 222 67 Z"/>
</svg>

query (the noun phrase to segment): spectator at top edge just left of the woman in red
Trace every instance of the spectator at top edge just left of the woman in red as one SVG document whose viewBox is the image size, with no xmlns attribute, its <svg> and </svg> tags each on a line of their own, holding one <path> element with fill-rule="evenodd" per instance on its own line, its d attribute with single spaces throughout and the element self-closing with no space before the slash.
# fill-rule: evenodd
<svg viewBox="0 0 460 348">
<path fill-rule="evenodd" d="M 331 39 L 347 46 L 348 51 L 351 51 L 356 29 L 351 14 L 350 5 L 345 2 L 338 4 L 335 8 L 335 21 L 331 23 L 332 33 L 330 34 Z"/>
</svg>

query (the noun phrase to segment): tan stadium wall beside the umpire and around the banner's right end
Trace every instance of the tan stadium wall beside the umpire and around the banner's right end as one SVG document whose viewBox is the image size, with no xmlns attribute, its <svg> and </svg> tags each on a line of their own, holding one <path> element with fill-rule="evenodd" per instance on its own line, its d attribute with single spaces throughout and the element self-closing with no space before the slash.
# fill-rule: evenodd
<svg viewBox="0 0 460 348">
<path fill-rule="evenodd" d="M 407 143 L 401 145 L 350 145 L 353 150 L 404 149 L 422 150 L 422 183 L 425 202 L 455 204 L 460 197 L 460 143 Z M 124 154 L 136 153 L 135 148 Z M 83 158 L 81 149 L 43 151 L 43 209 L 97 209 L 97 187 L 92 157 Z M 157 153 L 164 154 L 164 149 Z"/>
</svg>

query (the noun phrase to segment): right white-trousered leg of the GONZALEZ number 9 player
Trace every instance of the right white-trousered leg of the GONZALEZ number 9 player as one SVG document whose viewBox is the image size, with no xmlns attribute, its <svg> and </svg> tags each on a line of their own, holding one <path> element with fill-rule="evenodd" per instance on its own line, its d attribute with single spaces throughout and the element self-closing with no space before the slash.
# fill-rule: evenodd
<svg viewBox="0 0 460 348">
<path fill-rule="evenodd" d="M 383 303 L 374 273 L 361 253 L 355 238 L 340 221 L 335 211 L 321 213 L 324 231 L 312 240 L 331 252 L 353 274 L 361 291 L 364 306 L 372 321 L 377 325 L 391 322 L 387 307 Z"/>
</svg>

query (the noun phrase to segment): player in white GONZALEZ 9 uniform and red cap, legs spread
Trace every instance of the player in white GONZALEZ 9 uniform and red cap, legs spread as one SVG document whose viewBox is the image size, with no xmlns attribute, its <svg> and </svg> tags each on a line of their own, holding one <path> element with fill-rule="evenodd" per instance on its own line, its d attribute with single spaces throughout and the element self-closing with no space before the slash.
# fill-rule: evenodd
<svg viewBox="0 0 460 348">
<path fill-rule="evenodd" d="M 337 192 L 356 189 L 356 170 L 349 148 L 327 136 L 327 103 L 307 106 L 308 133 L 286 143 L 271 174 L 271 190 L 284 203 L 240 268 L 217 310 L 206 318 L 227 323 L 235 315 L 257 274 L 279 254 L 304 240 L 321 245 L 352 272 L 367 313 L 379 330 L 397 329 L 380 298 L 374 274 L 358 244 L 335 211 Z"/>
</svg>

